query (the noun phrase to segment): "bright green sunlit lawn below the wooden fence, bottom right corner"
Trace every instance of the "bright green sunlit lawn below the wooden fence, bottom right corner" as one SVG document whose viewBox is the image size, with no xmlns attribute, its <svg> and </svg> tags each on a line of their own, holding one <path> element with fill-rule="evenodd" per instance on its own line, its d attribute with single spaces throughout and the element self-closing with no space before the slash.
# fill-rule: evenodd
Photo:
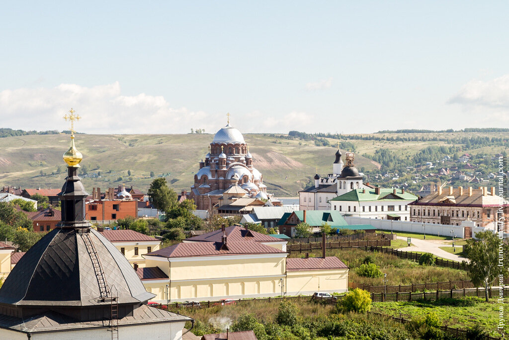
<svg viewBox="0 0 509 340">
<path fill-rule="evenodd" d="M 493 336 L 498 324 L 498 307 L 496 299 L 485 302 L 483 298 L 466 297 L 461 299 L 441 299 L 438 301 L 416 302 L 375 302 L 372 311 L 401 316 L 405 319 L 426 316 L 435 312 L 443 326 L 466 329 L 474 323 L 480 323 Z M 506 335 L 509 331 L 506 329 Z"/>
</svg>

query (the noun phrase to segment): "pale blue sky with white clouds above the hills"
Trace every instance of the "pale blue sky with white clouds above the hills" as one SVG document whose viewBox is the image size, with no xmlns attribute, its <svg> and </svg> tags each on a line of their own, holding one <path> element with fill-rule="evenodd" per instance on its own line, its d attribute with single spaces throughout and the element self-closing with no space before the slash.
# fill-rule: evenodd
<svg viewBox="0 0 509 340">
<path fill-rule="evenodd" d="M 0 127 L 509 127 L 509 2 L 4 2 Z"/>
</svg>

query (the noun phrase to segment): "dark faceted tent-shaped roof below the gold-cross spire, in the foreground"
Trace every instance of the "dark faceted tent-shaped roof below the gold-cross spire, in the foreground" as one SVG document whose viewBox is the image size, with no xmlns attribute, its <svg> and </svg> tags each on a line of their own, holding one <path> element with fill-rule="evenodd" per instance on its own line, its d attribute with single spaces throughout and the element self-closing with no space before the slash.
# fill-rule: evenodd
<svg viewBox="0 0 509 340">
<path fill-rule="evenodd" d="M 118 291 L 119 303 L 139 303 L 154 297 L 111 242 L 94 229 L 88 235 L 104 269 L 107 285 L 115 285 Z M 56 228 L 21 257 L 0 289 L 0 304 L 98 305 L 101 293 L 93 273 L 83 236 L 76 229 Z"/>
</svg>

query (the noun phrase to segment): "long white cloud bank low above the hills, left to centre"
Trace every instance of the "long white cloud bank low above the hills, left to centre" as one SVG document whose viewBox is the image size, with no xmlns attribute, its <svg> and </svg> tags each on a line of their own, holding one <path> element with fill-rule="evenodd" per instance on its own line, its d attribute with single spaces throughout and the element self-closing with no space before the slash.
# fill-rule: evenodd
<svg viewBox="0 0 509 340">
<path fill-rule="evenodd" d="M 78 132 L 89 134 L 176 134 L 191 128 L 215 133 L 226 113 L 173 108 L 163 96 L 123 95 L 119 82 L 94 87 L 61 84 L 54 88 L 19 88 L 0 92 L 0 127 L 23 130 L 65 130 L 62 118 L 74 108 L 82 119 Z M 312 130 L 313 116 L 304 112 L 232 113 L 232 125 L 243 133 L 288 133 Z"/>
</svg>

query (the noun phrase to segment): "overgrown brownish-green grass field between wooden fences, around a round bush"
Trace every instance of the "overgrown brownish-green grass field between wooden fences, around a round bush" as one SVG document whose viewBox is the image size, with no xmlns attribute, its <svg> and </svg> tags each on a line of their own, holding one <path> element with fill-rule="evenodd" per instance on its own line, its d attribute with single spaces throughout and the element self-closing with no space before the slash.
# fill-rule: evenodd
<svg viewBox="0 0 509 340">
<path fill-rule="evenodd" d="M 319 257 L 320 252 L 315 251 L 310 256 Z M 380 268 L 382 273 L 387 274 L 388 285 L 441 282 L 449 280 L 468 280 L 466 271 L 435 266 L 419 266 L 415 261 L 399 258 L 385 253 L 364 251 L 362 249 L 329 249 L 327 256 L 336 256 L 350 267 L 349 281 L 368 284 L 382 285 L 382 277 L 371 278 L 359 276 L 356 269 L 363 260 L 370 256 L 373 262 Z M 304 254 L 292 253 L 290 257 L 301 257 Z"/>
</svg>

